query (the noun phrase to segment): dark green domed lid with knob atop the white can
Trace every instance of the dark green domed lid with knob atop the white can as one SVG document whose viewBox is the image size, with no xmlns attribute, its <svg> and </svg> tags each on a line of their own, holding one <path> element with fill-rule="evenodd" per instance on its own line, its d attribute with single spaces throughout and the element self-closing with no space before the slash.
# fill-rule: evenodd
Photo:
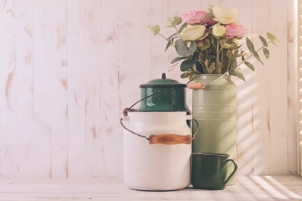
<svg viewBox="0 0 302 201">
<path fill-rule="evenodd" d="M 169 87 L 169 86 L 176 86 L 176 87 L 187 87 L 186 84 L 182 84 L 175 79 L 167 79 L 166 73 L 162 74 L 161 79 L 153 79 L 148 81 L 145 84 L 140 84 L 140 88 L 147 88 L 147 87 Z"/>
</svg>

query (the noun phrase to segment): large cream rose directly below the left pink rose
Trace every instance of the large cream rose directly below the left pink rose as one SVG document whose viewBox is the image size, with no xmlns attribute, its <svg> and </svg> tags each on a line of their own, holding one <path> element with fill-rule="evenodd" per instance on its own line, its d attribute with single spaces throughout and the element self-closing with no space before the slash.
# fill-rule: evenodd
<svg viewBox="0 0 302 201">
<path fill-rule="evenodd" d="M 196 41 L 200 39 L 205 33 L 205 26 L 194 25 L 188 26 L 181 33 L 180 36 L 184 41 Z"/>
</svg>

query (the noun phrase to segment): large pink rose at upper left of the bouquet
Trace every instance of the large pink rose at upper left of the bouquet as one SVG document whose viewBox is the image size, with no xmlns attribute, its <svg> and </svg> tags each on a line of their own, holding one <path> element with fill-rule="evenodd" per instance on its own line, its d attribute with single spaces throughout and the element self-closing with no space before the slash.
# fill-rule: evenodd
<svg viewBox="0 0 302 201">
<path fill-rule="evenodd" d="M 190 25 L 204 23 L 211 25 L 216 23 L 216 21 L 212 20 L 206 11 L 190 11 L 183 15 L 182 20 Z"/>
</svg>

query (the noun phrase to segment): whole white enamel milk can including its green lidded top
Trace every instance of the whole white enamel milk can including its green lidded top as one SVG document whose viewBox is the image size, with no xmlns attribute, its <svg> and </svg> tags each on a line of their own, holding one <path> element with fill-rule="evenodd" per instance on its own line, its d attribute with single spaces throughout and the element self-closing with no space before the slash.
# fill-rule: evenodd
<svg viewBox="0 0 302 201">
<path fill-rule="evenodd" d="M 165 85 L 167 80 L 170 85 Z M 192 116 L 186 109 L 185 100 L 181 101 L 183 106 L 175 106 L 180 102 L 174 94 L 185 86 L 166 79 L 164 74 L 162 80 L 150 82 L 140 85 L 143 95 L 135 103 L 141 102 L 138 110 L 132 109 L 135 104 L 126 108 L 120 120 L 124 128 L 124 184 L 137 190 L 186 188 L 191 181 L 191 144 L 198 126 L 192 135 L 187 123 Z M 171 110 L 167 110 L 169 108 Z"/>
</svg>

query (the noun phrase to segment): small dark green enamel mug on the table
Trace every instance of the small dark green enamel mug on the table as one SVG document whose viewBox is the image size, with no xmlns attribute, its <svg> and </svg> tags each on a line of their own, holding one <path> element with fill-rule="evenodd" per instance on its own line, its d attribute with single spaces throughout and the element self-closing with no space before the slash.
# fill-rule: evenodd
<svg viewBox="0 0 302 201">
<path fill-rule="evenodd" d="M 192 185 L 194 188 L 222 190 L 237 171 L 234 160 L 228 154 L 192 153 Z M 234 171 L 226 178 L 228 162 L 234 163 Z"/>
</svg>

